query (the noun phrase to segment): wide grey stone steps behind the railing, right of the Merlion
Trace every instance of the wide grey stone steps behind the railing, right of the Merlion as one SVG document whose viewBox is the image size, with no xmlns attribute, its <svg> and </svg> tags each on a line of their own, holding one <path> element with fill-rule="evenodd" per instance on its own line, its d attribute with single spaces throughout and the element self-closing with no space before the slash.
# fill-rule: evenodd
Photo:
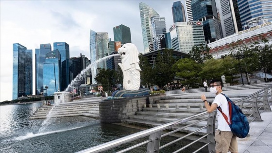
<svg viewBox="0 0 272 153">
<path fill-rule="evenodd" d="M 238 90 L 238 89 L 256 89 L 256 88 L 265 88 L 270 86 L 271 84 L 260 84 L 260 85 L 239 85 L 239 86 L 230 86 L 224 87 L 223 90 Z M 145 126 L 145 127 L 155 127 L 159 126 L 177 119 L 186 118 L 192 116 L 194 114 L 205 111 L 204 103 L 200 99 L 199 94 L 194 96 L 192 94 L 184 94 L 184 93 L 196 93 L 196 92 L 204 92 L 204 88 L 202 89 L 190 89 L 186 90 L 186 92 L 181 92 L 181 90 L 172 90 L 167 92 L 169 95 L 167 97 L 161 98 L 161 100 L 156 101 L 153 104 L 147 105 L 146 108 L 143 108 L 142 111 L 136 112 L 136 115 L 129 116 L 129 119 L 122 119 L 122 123 L 136 125 L 136 126 Z M 249 96 L 251 93 L 241 94 L 237 92 L 237 94 L 227 94 L 227 96 L 233 101 L 238 101 L 242 98 Z M 206 95 L 208 102 L 213 102 L 215 96 Z M 262 99 L 258 100 L 259 102 Z M 244 103 L 244 106 L 248 105 L 248 103 Z M 258 104 L 259 106 L 261 103 Z M 249 105 L 251 106 L 251 105 Z M 242 111 L 245 112 L 248 109 L 245 108 Z M 246 115 L 251 114 L 252 111 L 246 113 Z M 201 120 L 208 117 L 208 115 L 203 116 L 202 118 L 194 119 L 184 123 L 181 126 L 186 126 L 192 122 L 197 120 Z M 251 119 L 249 119 L 250 121 Z M 194 126 L 187 127 L 181 132 L 189 133 L 196 131 L 197 129 L 205 126 L 207 121 L 201 121 Z M 217 123 L 216 123 L 217 128 Z M 175 128 L 177 129 L 177 128 Z M 175 130 L 172 129 L 172 130 Z M 206 134 L 206 129 L 202 129 L 196 133 L 196 135 L 203 136 Z"/>
</svg>

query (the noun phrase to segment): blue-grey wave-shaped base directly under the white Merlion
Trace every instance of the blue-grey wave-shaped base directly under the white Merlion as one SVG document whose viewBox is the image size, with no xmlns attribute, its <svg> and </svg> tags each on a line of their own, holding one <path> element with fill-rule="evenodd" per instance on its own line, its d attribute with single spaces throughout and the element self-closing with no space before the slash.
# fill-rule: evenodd
<svg viewBox="0 0 272 153">
<path fill-rule="evenodd" d="M 151 91 L 148 88 L 140 88 L 139 90 L 136 90 L 136 91 L 117 90 L 113 92 L 111 97 L 109 97 L 108 99 L 147 96 L 147 95 L 150 95 L 150 92 Z"/>
</svg>

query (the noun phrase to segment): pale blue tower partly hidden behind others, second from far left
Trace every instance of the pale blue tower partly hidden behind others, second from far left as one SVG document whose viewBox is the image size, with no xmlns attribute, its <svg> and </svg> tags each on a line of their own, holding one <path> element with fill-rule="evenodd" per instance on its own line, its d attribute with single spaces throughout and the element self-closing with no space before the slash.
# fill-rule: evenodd
<svg viewBox="0 0 272 153">
<path fill-rule="evenodd" d="M 40 44 L 40 49 L 35 50 L 36 54 L 36 86 L 37 94 L 44 91 L 43 85 L 43 64 L 45 63 L 45 54 L 51 51 L 51 44 Z"/>
</svg>

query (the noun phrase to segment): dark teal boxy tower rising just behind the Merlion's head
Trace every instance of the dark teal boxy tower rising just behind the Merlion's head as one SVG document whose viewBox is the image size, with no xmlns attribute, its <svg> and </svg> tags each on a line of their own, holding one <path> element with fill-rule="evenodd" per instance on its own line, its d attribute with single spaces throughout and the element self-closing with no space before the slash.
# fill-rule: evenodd
<svg viewBox="0 0 272 153">
<path fill-rule="evenodd" d="M 122 44 L 131 43 L 130 28 L 125 25 L 119 25 L 113 28 L 114 41 L 120 41 Z"/>
</svg>

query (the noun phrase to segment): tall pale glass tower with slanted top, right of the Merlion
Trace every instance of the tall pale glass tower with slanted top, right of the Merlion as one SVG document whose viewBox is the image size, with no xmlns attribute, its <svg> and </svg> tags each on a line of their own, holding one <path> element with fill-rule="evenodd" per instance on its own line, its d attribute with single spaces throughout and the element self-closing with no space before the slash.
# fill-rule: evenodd
<svg viewBox="0 0 272 153">
<path fill-rule="evenodd" d="M 144 52 L 153 50 L 153 36 L 151 31 L 151 17 L 159 16 L 159 14 L 147 4 L 140 2 L 140 17 L 143 34 Z"/>
</svg>

